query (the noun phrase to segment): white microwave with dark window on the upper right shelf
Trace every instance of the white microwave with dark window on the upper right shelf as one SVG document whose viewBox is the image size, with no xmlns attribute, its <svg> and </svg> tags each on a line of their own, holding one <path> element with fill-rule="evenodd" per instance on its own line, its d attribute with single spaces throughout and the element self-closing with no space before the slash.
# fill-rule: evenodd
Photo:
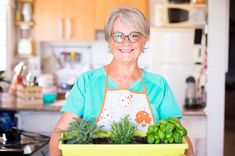
<svg viewBox="0 0 235 156">
<path fill-rule="evenodd" d="M 207 23 L 206 4 L 157 4 L 154 9 L 158 27 L 202 27 Z"/>
</svg>

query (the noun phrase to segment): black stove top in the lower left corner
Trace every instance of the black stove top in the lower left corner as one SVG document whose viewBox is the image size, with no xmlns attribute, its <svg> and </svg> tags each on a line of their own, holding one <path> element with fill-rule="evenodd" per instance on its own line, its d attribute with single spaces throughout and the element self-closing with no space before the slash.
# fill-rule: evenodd
<svg viewBox="0 0 235 156">
<path fill-rule="evenodd" d="M 0 155 L 7 156 L 33 156 L 39 150 L 48 152 L 49 137 L 37 133 L 26 132 L 19 129 L 10 129 L 5 133 L 6 141 L 0 142 Z M 3 135 L 0 135 L 3 137 Z"/>
</svg>

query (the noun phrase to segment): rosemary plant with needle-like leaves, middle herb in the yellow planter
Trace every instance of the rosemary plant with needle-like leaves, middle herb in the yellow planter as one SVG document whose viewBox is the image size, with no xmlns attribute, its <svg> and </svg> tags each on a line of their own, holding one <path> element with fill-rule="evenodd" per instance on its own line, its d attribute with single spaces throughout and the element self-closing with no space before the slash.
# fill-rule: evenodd
<svg viewBox="0 0 235 156">
<path fill-rule="evenodd" d="M 115 144 L 132 143 L 136 129 L 136 125 L 131 124 L 126 115 L 121 121 L 112 123 L 110 139 Z"/>
</svg>

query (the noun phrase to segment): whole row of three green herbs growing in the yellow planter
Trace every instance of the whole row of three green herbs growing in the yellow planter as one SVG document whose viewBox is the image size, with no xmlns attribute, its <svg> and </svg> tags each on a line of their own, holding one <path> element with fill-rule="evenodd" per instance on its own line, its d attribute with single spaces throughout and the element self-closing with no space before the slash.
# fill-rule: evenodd
<svg viewBox="0 0 235 156">
<path fill-rule="evenodd" d="M 135 136 L 145 137 L 146 134 L 149 144 L 171 144 L 182 143 L 183 137 L 187 135 L 187 130 L 175 118 L 150 125 L 147 133 L 136 131 L 137 126 L 129 121 L 127 115 L 119 122 L 113 122 L 110 131 L 99 130 L 94 120 L 95 118 L 90 120 L 73 118 L 66 130 L 59 131 L 63 134 L 59 140 L 65 144 L 89 144 L 97 138 L 108 138 L 108 141 L 114 144 L 129 144 L 133 143 Z"/>
</svg>

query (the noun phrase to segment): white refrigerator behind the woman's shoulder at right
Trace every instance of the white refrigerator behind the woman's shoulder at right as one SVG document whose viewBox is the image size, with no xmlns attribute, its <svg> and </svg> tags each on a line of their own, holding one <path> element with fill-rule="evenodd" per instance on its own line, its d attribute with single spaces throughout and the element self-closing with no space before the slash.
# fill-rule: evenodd
<svg viewBox="0 0 235 156">
<path fill-rule="evenodd" d="M 151 72 L 162 75 L 179 106 L 184 105 L 186 78 L 194 74 L 194 28 L 151 28 Z"/>
</svg>

